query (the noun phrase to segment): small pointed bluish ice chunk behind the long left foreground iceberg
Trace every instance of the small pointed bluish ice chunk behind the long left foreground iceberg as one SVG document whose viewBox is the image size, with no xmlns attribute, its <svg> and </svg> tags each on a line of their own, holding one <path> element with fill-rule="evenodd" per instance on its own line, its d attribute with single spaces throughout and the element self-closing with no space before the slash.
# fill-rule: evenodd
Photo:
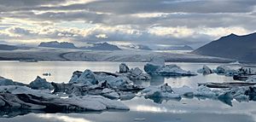
<svg viewBox="0 0 256 122">
<path fill-rule="evenodd" d="M 39 76 L 30 84 L 28 84 L 28 87 L 35 90 L 54 89 L 54 87 L 49 82 L 47 82 L 45 78 L 40 78 Z"/>
</svg>

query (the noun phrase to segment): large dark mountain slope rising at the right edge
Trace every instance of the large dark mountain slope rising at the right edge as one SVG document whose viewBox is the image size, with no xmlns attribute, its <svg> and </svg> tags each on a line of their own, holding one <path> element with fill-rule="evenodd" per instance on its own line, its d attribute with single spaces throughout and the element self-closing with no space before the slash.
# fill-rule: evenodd
<svg viewBox="0 0 256 122">
<path fill-rule="evenodd" d="M 195 49 L 192 53 L 256 62 L 256 33 L 244 36 L 232 33 Z"/>
</svg>

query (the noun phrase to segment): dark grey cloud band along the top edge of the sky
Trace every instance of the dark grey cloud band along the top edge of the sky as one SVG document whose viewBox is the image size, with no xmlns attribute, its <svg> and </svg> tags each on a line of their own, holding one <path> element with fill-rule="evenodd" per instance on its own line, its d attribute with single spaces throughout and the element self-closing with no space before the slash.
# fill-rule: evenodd
<svg viewBox="0 0 256 122">
<path fill-rule="evenodd" d="M 255 0 L 101 0 L 67 6 L 39 7 L 38 10 L 89 9 L 118 15 L 137 13 L 246 13 L 253 10 Z"/>
</svg>

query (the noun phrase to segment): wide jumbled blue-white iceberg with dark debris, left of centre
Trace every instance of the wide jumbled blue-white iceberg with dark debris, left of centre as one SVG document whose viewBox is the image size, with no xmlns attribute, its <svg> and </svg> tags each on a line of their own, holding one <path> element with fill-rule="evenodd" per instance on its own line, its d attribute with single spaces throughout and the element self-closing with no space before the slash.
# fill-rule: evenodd
<svg viewBox="0 0 256 122">
<path fill-rule="evenodd" d="M 97 95 L 110 99 L 128 99 L 135 96 L 143 86 L 133 84 L 126 75 L 105 72 L 74 72 L 68 84 L 52 83 L 54 93 L 64 92 L 67 95 Z"/>
</svg>

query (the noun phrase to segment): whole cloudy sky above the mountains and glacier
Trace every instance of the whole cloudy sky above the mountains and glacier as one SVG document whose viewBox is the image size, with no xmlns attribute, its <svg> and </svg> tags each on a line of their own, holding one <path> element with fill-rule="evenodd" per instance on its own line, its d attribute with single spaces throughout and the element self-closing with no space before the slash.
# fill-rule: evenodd
<svg viewBox="0 0 256 122">
<path fill-rule="evenodd" d="M 256 0 L 0 0 L 0 41 L 194 48 L 256 30 Z"/>
</svg>

